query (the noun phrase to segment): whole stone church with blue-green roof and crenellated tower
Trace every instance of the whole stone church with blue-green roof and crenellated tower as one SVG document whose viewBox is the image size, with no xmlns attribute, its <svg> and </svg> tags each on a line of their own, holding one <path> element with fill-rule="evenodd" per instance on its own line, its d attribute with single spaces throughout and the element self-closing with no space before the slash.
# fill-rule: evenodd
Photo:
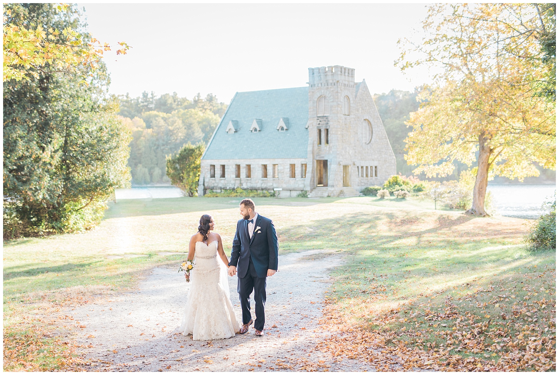
<svg viewBox="0 0 559 375">
<path fill-rule="evenodd" d="M 350 197 L 396 174 L 371 93 L 354 72 L 309 68 L 308 87 L 236 93 L 202 156 L 198 195 L 240 187 Z"/>
</svg>

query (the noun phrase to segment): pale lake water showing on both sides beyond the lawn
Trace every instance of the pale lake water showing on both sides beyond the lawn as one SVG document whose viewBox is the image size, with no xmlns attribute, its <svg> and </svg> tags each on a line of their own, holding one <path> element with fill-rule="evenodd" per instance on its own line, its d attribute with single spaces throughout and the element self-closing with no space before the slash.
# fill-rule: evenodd
<svg viewBox="0 0 559 375">
<path fill-rule="evenodd" d="M 543 213 L 542 203 L 553 197 L 555 185 L 510 185 L 487 186 L 491 192 L 492 208 L 499 215 L 536 219 Z M 116 189 L 116 199 L 178 198 L 181 189 L 174 186 L 134 187 Z"/>
</svg>

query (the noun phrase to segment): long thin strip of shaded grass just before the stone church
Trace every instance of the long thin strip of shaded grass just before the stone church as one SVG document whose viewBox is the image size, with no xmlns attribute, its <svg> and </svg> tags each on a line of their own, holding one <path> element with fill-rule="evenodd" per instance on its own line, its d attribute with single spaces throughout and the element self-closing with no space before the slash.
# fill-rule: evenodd
<svg viewBox="0 0 559 375">
<path fill-rule="evenodd" d="M 344 198 L 251 198 L 257 206 L 313 206 L 331 203 Z M 146 198 L 120 200 L 109 203 L 103 219 L 130 216 L 156 216 L 170 213 L 186 213 L 196 211 L 221 210 L 239 207 L 241 197 L 205 198 Z"/>
</svg>

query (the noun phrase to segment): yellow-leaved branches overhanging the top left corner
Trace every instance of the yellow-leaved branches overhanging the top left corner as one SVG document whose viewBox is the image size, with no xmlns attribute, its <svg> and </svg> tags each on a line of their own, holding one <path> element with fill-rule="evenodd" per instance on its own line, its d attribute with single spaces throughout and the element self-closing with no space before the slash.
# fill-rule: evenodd
<svg viewBox="0 0 559 375">
<path fill-rule="evenodd" d="M 49 4 L 48 7 L 61 13 L 61 19 L 77 14 L 68 4 Z M 32 9 L 22 4 L 4 6 L 3 82 L 10 79 L 30 80 L 30 76 L 39 79 L 38 72 L 78 73 L 92 77 L 102 65 L 103 52 L 110 51 L 111 46 L 74 30 L 74 25 L 45 25 L 40 18 L 29 17 Z M 118 43 L 121 48 L 116 54 L 126 54 L 130 47 L 126 42 Z M 87 82 L 82 80 L 82 83 Z"/>
</svg>

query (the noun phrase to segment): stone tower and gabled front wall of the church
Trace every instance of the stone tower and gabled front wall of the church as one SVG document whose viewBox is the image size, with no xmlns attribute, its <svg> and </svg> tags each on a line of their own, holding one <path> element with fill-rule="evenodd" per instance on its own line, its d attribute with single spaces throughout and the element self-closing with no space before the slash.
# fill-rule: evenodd
<svg viewBox="0 0 559 375">
<path fill-rule="evenodd" d="M 356 196 L 396 173 L 375 103 L 355 69 L 309 68 L 307 188 L 311 197 Z"/>
</svg>

